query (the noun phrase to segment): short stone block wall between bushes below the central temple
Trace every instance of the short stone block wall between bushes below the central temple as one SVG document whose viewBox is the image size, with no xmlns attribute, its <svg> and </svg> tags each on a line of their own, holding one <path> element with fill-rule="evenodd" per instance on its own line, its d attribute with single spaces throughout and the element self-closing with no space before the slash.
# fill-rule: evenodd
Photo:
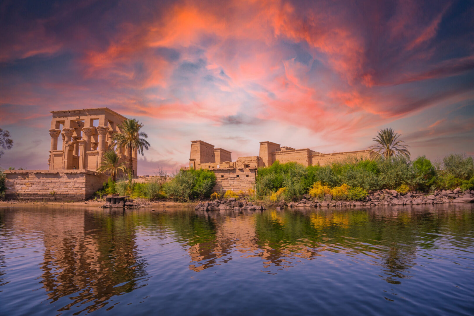
<svg viewBox="0 0 474 316">
<path fill-rule="evenodd" d="M 242 190 L 249 194 L 250 189 L 255 190 L 255 168 L 220 168 L 211 169 L 217 178 L 213 192 L 232 190 L 238 192 Z"/>
</svg>

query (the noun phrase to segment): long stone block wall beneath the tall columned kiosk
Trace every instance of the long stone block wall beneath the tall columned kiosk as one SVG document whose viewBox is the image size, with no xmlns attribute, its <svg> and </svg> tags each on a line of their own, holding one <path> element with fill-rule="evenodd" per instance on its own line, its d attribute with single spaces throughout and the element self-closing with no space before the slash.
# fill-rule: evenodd
<svg viewBox="0 0 474 316">
<path fill-rule="evenodd" d="M 5 198 L 31 201 L 83 201 L 108 179 L 88 170 L 7 170 L 5 175 Z"/>
</svg>

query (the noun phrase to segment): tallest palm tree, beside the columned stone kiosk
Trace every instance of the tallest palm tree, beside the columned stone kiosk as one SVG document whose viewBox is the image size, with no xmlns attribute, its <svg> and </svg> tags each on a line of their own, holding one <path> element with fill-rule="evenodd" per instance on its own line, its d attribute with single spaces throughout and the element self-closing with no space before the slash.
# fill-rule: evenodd
<svg viewBox="0 0 474 316">
<path fill-rule="evenodd" d="M 148 146 L 150 146 L 150 143 L 144 139 L 148 138 L 148 135 L 144 132 L 140 132 L 140 128 L 142 127 L 143 125 L 135 118 L 128 118 L 123 121 L 122 125 L 118 126 L 121 133 L 115 134 L 113 138 L 118 147 L 127 147 L 128 169 L 130 172 L 133 168 L 132 151 L 138 149 L 138 153 L 141 153 L 143 156 L 143 148 L 148 150 Z"/>
</svg>

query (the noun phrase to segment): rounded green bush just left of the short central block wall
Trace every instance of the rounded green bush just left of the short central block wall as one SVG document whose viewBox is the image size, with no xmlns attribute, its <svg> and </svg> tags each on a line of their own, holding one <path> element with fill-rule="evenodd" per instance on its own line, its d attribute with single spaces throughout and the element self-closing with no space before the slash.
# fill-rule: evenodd
<svg viewBox="0 0 474 316">
<path fill-rule="evenodd" d="M 210 170 L 180 170 L 173 180 L 164 184 L 163 190 L 178 200 L 209 198 L 216 181 L 216 175 Z"/>
</svg>

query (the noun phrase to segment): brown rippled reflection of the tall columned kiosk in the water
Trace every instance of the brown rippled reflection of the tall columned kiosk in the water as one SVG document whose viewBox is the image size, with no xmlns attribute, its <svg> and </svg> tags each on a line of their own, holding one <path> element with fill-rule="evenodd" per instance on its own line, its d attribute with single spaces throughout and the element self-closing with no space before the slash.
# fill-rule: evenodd
<svg viewBox="0 0 474 316">
<path fill-rule="evenodd" d="M 58 311 L 78 305 L 81 312 L 91 312 L 109 304 L 111 297 L 141 286 L 146 262 L 138 254 L 134 223 L 123 212 L 48 215 L 40 220 L 21 212 L 14 216 L 42 234 L 44 261 L 39 282 L 49 303 L 70 299 Z"/>
</svg>

